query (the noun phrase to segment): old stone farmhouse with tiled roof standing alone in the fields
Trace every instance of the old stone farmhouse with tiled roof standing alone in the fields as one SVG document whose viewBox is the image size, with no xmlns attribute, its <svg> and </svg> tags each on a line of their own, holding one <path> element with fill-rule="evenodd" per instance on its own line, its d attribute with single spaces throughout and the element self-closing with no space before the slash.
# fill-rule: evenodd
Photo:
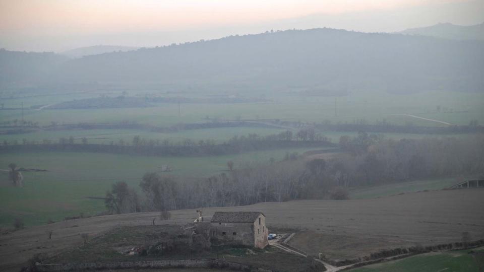
<svg viewBox="0 0 484 272">
<path fill-rule="evenodd" d="M 210 220 L 210 221 L 209 221 Z M 269 244 L 266 216 L 262 212 L 215 212 L 212 218 L 199 217 L 212 245 L 244 245 L 264 248 Z"/>
</svg>

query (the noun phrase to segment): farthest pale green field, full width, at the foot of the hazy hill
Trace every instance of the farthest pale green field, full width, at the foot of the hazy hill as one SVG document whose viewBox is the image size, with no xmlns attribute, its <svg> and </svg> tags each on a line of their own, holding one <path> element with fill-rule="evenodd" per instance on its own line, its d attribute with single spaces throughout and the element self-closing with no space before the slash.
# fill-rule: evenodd
<svg viewBox="0 0 484 272">
<path fill-rule="evenodd" d="M 112 94 L 120 95 L 118 94 Z M 52 95 L 4 100 L 5 107 L 25 107 L 51 104 L 73 99 L 87 98 L 87 94 Z M 91 94 L 96 97 L 96 94 Z M 337 114 L 335 116 L 335 99 Z M 25 119 L 41 125 L 51 121 L 59 123 L 137 121 L 153 125 L 204 122 L 210 118 L 234 119 L 281 119 L 321 122 L 353 122 L 366 119 L 369 123 L 386 119 L 395 124 L 440 126 L 442 124 L 394 114 L 413 114 L 453 124 L 468 124 L 471 119 L 484 123 L 484 94 L 463 92 L 423 92 L 411 95 L 395 95 L 382 92 L 353 93 L 343 97 L 308 97 L 297 93 L 274 94 L 270 102 L 235 104 L 182 104 L 178 116 L 176 104 L 158 104 L 149 108 L 129 109 L 71 109 L 26 110 Z M 437 111 L 440 106 L 440 111 Z M 444 112 L 445 111 L 445 112 Z M 0 122 L 21 118 L 20 110 L 5 110 Z"/>
</svg>

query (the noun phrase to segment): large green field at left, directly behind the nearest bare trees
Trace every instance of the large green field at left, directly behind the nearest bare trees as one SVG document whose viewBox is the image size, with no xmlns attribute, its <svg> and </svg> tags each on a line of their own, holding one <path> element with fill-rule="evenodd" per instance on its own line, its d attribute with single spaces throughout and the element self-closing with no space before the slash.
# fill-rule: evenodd
<svg viewBox="0 0 484 272">
<path fill-rule="evenodd" d="M 161 172 L 190 180 L 225 172 L 226 163 L 241 167 L 249 162 L 281 160 L 286 152 L 302 154 L 310 149 L 279 149 L 212 157 L 143 157 L 98 153 L 19 153 L 0 154 L 0 169 L 15 162 L 19 167 L 48 172 L 23 172 L 24 187 L 13 187 L 8 172 L 0 172 L 0 226 L 10 226 L 16 217 L 26 225 L 45 224 L 49 218 L 61 220 L 79 213 L 94 215 L 104 210 L 102 200 L 111 184 L 126 181 L 138 189 L 146 172 L 158 172 L 161 165 L 173 171 Z"/>
</svg>

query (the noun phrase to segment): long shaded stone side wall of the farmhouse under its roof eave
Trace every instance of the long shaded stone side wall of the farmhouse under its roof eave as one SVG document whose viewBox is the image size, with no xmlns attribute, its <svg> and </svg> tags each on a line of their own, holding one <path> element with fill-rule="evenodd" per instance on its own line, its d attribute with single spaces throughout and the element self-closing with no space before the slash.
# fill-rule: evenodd
<svg viewBox="0 0 484 272">
<path fill-rule="evenodd" d="M 213 245 L 254 246 L 254 224 L 239 222 L 210 223 L 210 237 Z"/>
</svg>

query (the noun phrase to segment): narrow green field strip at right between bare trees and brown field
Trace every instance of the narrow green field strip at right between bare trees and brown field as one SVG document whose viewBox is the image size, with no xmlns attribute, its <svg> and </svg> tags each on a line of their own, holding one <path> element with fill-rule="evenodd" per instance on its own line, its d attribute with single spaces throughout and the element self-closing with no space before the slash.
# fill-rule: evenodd
<svg viewBox="0 0 484 272">
<path fill-rule="evenodd" d="M 351 199 L 377 198 L 396 195 L 399 193 L 417 192 L 423 190 L 441 190 L 459 183 L 459 178 L 438 178 L 414 180 L 395 184 L 386 184 L 375 187 L 353 188 L 349 192 Z"/>
</svg>

